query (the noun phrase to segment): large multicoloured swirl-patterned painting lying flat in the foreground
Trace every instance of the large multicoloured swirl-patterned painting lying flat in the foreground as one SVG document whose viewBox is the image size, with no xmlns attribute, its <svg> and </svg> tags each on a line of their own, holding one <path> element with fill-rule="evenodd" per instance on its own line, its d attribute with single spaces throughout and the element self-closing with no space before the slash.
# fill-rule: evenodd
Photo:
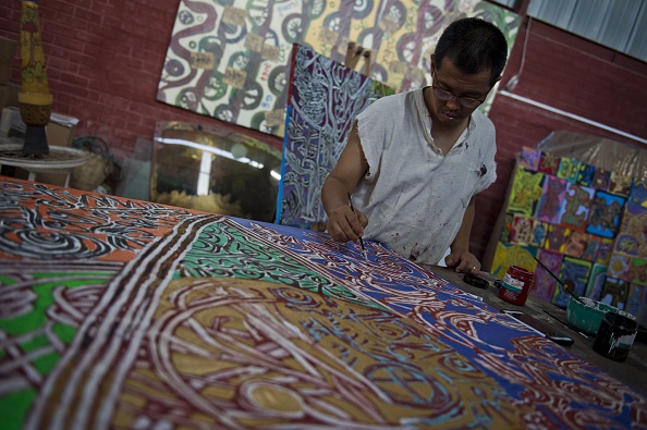
<svg viewBox="0 0 647 430">
<path fill-rule="evenodd" d="M 644 393 L 376 242 L 7 177 L 0 212 L 4 428 L 647 427 Z"/>
</svg>

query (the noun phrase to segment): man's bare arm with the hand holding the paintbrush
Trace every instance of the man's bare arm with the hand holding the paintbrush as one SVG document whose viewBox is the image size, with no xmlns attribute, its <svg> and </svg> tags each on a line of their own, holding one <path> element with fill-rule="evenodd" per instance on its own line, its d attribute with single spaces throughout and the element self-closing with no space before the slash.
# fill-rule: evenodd
<svg viewBox="0 0 647 430">
<path fill-rule="evenodd" d="M 358 210 L 353 212 L 349 206 L 349 194 L 355 191 L 367 170 L 368 162 L 362 150 L 355 121 L 346 146 L 321 188 L 321 202 L 328 214 L 328 233 L 338 242 L 358 241 L 368 225 L 366 216 Z"/>
</svg>

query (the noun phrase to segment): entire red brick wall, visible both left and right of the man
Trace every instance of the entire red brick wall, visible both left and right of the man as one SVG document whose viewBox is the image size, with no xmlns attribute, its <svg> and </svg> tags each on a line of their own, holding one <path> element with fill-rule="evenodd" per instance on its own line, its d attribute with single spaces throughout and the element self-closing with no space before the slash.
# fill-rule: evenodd
<svg viewBox="0 0 647 430">
<path fill-rule="evenodd" d="M 42 0 L 40 20 L 53 110 L 81 119 L 76 135 L 99 135 L 126 153 L 152 137 L 157 121 L 194 121 L 244 130 L 156 101 L 178 0 Z M 17 38 L 21 1 L 0 5 L 0 36 Z M 517 71 L 524 27 L 502 86 Z M 17 57 L 12 81 L 20 82 Z M 647 64 L 534 21 L 514 94 L 647 138 Z M 498 181 L 477 200 L 472 248 L 483 256 L 501 209 L 515 153 L 553 130 L 631 139 L 499 95 L 490 118 L 498 133 Z"/>
</svg>

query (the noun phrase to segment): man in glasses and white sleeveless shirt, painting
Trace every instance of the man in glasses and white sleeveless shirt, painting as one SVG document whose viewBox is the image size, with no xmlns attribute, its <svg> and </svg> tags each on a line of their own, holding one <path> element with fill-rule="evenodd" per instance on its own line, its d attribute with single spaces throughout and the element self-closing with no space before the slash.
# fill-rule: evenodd
<svg viewBox="0 0 647 430">
<path fill-rule="evenodd" d="M 497 179 L 495 126 L 477 108 L 501 78 L 508 44 L 480 19 L 450 24 L 431 56 L 431 86 L 359 113 L 321 189 L 328 233 L 373 238 L 418 262 L 477 273 L 474 197 Z M 351 209 L 349 196 L 353 194 Z"/>
</svg>

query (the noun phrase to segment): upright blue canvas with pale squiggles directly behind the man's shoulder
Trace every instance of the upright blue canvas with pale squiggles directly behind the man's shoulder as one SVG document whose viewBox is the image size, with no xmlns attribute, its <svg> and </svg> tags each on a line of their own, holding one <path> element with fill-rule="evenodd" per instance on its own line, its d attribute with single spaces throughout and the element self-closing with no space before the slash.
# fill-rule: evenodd
<svg viewBox="0 0 647 430">
<path fill-rule="evenodd" d="M 353 120 L 373 101 L 394 91 L 296 44 L 291 70 L 276 222 L 309 228 L 326 220 L 321 186 Z"/>
</svg>

